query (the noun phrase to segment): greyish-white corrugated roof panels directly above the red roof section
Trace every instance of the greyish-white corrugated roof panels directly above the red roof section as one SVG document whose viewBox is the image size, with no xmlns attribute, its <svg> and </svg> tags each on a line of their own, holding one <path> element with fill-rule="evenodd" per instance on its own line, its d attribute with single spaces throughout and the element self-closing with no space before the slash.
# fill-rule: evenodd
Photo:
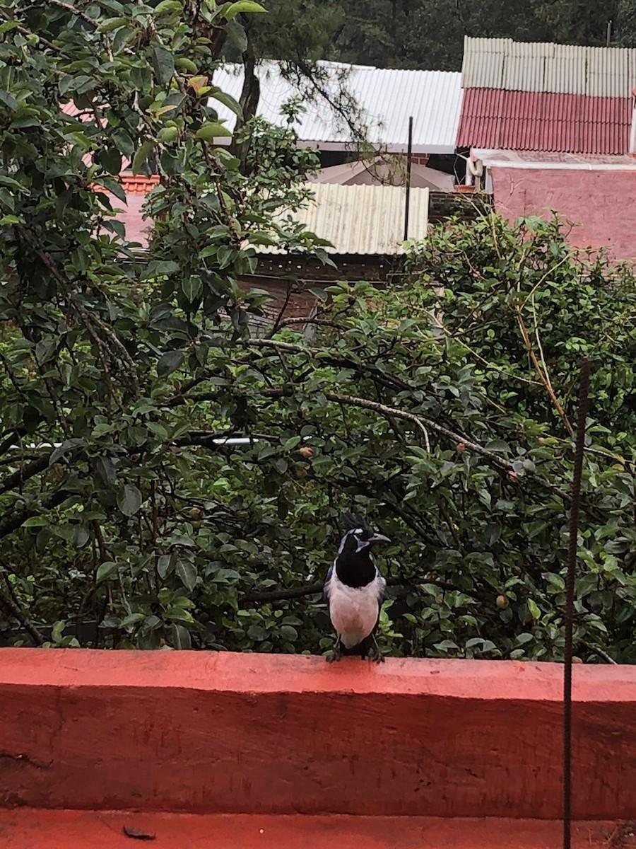
<svg viewBox="0 0 636 849">
<path fill-rule="evenodd" d="M 636 50 L 466 37 L 461 85 L 628 98 L 636 86 Z"/>
</svg>

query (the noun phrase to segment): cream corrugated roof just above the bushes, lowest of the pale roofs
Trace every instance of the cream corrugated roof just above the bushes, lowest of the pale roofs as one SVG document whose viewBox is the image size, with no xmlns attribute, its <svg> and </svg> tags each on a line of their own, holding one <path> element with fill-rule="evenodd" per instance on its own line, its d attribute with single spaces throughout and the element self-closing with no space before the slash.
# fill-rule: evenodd
<svg viewBox="0 0 636 849">
<path fill-rule="evenodd" d="M 331 254 L 393 256 L 402 253 L 405 189 L 400 186 L 340 186 L 309 183 L 315 198 L 307 209 L 290 213 L 311 233 L 333 245 Z M 425 239 L 428 189 L 410 190 L 409 239 Z M 283 253 L 259 247 L 259 253 Z"/>
</svg>

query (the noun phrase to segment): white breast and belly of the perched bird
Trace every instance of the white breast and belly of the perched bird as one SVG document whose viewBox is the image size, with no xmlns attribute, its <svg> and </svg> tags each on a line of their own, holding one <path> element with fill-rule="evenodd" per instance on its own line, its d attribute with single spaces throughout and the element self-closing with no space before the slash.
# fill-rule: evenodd
<svg viewBox="0 0 636 849">
<path fill-rule="evenodd" d="M 384 578 L 377 575 L 365 587 L 348 587 L 333 570 L 329 582 L 329 616 L 347 649 L 360 644 L 375 627 L 385 585 Z"/>
</svg>

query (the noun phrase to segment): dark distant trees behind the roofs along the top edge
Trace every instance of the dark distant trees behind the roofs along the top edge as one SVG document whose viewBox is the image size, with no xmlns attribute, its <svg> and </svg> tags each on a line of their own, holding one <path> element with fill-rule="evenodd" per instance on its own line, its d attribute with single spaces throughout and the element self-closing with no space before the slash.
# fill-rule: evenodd
<svg viewBox="0 0 636 849">
<path fill-rule="evenodd" d="M 636 47 L 634 0 L 273 0 L 272 18 L 254 21 L 259 56 L 337 59 L 380 68 L 460 70 L 464 36 L 603 47 Z"/>
</svg>

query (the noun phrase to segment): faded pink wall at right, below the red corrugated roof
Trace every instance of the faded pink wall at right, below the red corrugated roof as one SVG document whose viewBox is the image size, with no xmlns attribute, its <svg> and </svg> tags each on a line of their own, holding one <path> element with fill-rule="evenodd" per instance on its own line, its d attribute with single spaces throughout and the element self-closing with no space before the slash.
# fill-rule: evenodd
<svg viewBox="0 0 636 849">
<path fill-rule="evenodd" d="M 550 217 L 555 209 L 574 224 L 580 248 L 608 246 L 615 259 L 636 259 L 636 171 L 493 168 L 497 211 Z"/>
</svg>

